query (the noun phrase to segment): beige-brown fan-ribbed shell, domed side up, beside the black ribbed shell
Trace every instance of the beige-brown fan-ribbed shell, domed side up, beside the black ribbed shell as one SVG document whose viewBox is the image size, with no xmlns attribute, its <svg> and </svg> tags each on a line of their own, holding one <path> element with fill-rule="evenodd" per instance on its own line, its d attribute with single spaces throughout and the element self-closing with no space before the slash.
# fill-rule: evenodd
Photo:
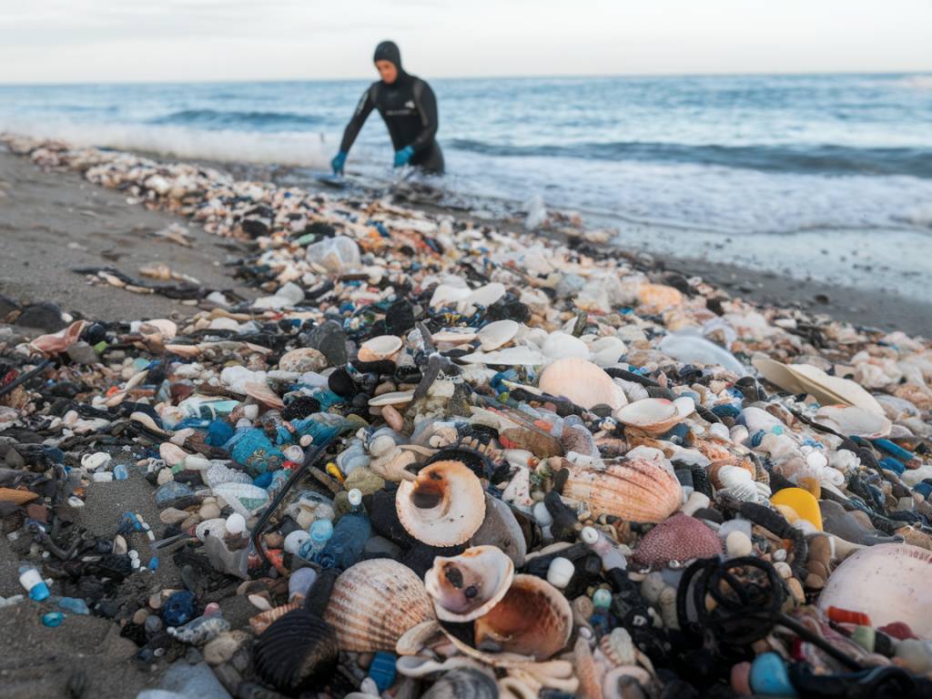
<svg viewBox="0 0 932 699">
<path fill-rule="evenodd" d="M 374 558 L 345 570 L 323 618 L 334 627 L 340 650 L 394 651 L 404 633 L 433 617 L 431 597 L 412 569 Z"/>
</svg>

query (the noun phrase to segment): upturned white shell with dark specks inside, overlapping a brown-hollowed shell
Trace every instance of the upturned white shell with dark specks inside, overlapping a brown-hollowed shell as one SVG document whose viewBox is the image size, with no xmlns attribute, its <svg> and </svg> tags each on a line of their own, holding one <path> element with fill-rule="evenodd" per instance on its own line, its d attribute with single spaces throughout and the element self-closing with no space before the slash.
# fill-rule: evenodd
<svg viewBox="0 0 932 699">
<path fill-rule="evenodd" d="M 445 622 L 471 622 L 498 604 L 514 578 L 514 563 L 496 546 L 437 556 L 424 575 L 433 609 Z"/>
</svg>

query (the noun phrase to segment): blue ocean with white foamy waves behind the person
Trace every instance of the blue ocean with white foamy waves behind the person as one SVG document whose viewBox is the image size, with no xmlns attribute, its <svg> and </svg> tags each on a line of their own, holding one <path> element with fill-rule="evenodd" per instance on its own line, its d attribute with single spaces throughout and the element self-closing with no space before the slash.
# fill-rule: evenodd
<svg viewBox="0 0 932 699">
<path fill-rule="evenodd" d="M 927 295 L 932 75 L 431 84 L 447 165 L 432 184 L 451 202 L 496 211 L 542 199 L 660 254 Z M 0 130 L 277 163 L 310 181 L 328 169 L 366 85 L 0 86 Z M 347 168 L 390 181 L 391 155 L 373 114 Z"/>
</svg>

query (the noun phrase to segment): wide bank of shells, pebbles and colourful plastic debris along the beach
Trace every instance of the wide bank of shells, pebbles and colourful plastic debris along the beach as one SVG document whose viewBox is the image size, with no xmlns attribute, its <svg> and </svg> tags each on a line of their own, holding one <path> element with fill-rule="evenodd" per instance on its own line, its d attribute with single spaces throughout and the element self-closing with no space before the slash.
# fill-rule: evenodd
<svg viewBox="0 0 932 699">
<path fill-rule="evenodd" d="M 932 692 L 928 340 L 386 202 L 7 143 L 253 238 L 240 274 L 268 296 L 0 329 L 0 387 L 26 377 L 0 395 L 2 604 L 54 626 L 83 602 L 237 697 Z M 90 534 L 87 503 L 139 479 L 158 519 Z"/>
</svg>

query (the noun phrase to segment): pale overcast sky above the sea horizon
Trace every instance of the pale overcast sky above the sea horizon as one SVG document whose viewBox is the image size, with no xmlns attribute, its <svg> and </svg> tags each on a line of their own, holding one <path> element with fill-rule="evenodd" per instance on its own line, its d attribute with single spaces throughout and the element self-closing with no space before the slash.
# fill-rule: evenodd
<svg viewBox="0 0 932 699">
<path fill-rule="evenodd" d="M 0 83 L 932 70 L 932 0 L 0 0 Z"/>
</svg>

